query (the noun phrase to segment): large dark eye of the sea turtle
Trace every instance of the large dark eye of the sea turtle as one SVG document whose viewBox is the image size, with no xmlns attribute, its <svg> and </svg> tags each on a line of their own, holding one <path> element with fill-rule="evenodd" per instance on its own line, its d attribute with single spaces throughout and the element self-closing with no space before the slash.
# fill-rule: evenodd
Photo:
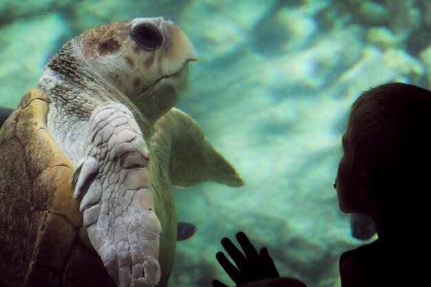
<svg viewBox="0 0 431 287">
<path fill-rule="evenodd" d="M 142 23 L 130 32 L 132 39 L 144 50 L 153 51 L 163 43 L 163 36 L 158 28 L 151 23 Z"/>
</svg>

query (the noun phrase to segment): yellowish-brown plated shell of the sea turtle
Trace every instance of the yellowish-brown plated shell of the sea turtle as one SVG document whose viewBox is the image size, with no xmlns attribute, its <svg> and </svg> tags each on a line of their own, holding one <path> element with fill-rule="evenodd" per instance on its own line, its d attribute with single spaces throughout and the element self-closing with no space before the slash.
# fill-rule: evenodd
<svg viewBox="0 0 431 287">
<path fill-rule="evenodd" d="M 116 286 L 88 240 L 72 163 L 30 89 L 0 130 L 0 286 Z"/>
</svg>

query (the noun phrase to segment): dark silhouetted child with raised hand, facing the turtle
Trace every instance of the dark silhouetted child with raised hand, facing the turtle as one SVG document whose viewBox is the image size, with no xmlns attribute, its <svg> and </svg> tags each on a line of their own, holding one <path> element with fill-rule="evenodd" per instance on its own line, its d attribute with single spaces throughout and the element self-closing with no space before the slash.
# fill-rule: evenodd
<svg viewBox="0 0 431 287">
<path fill-rule="evenodd" d="M 353 103 L 334 187 L 341 211 L 372 217 L 378 238 L 341 255 L 342 287 L 413 286 L 427 278 L 422 272 L 426 264 L 419 264 L 417 257 L 427 259 L 428 243 L 425 235 L 409 232 L 408 226 L 427 217 L 430 127 L 428 89 L 388 83 L 369 89 Z M 236 266 L 222 252 L 216 258 L 237 286 L 306 286 L 280 277 L 265 247 L 257 253 L 244 233 L 236 237 L 244 254 L 229 238 L 222 239 Z M 212 285 L 227 287 L 217 279 Z"/>
</svg>

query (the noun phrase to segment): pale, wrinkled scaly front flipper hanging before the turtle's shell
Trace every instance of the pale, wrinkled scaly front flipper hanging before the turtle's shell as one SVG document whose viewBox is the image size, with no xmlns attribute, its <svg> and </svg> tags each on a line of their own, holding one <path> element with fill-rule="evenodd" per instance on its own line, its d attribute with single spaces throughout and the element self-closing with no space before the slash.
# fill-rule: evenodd
<svg viewBox="0 0 431 287">
<path fill-rule="evenodd" d="M 119 103 L 98 106 L 87 144 L 72 182 L 90 242 L 118 286 L 156 286 L 161 225 L 149 151 L 132 112 Z"/>
</svg>

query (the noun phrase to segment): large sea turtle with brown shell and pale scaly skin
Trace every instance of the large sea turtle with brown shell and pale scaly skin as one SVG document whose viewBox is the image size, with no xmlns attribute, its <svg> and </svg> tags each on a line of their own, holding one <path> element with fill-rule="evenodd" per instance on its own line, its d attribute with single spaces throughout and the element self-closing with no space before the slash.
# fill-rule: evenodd
<svg viewBox="0 0 431 287">
<path fill-rule="evenodd" d="M 195 60 L 164 17 L 98 26 L 52 56 L 0 130 L 0 286 L 167 285 L 171 184 L 243 184 L 173 107 Z"/>
</svg>

